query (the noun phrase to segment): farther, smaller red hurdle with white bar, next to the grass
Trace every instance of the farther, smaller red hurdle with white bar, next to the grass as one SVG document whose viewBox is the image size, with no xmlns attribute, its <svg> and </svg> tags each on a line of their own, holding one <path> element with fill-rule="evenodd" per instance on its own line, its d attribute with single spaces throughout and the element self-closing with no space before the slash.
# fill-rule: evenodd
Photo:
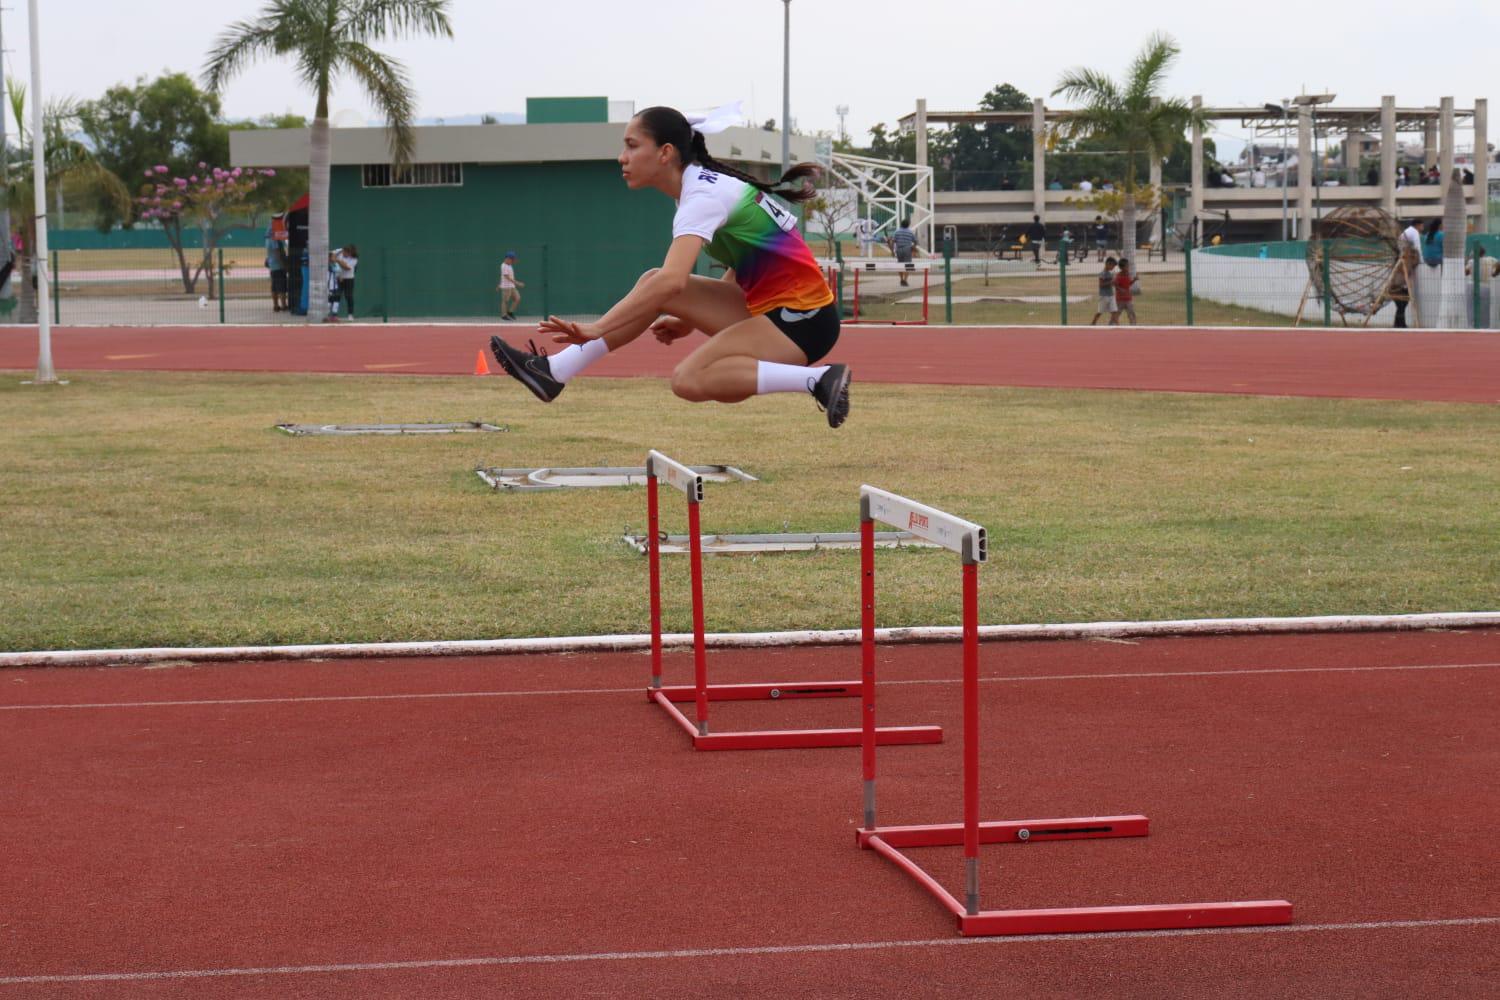
<svg viewBox="0 0 1500 1000">
<path fill-rule="evenodd" d="M 693 601 L 693 684 L 672 687 L 662 684 L 662 532 L 658 531 L 657 480 L 687 496 L 688 565 Z M 651 687 L 646 699 L 662 706 L 693 741 L 693 750 L 792 750 L 813 747 L 858 747 L 861 741 L 880 744 L 942 742 L 938 726 L 891 726 L 864 729 L 777 729 L 759 732 L 708 732 L 710 702 L 752 702 L 783 699 L 860 697 L 861 682 L 789 682 L 789 684 L 710 684 L 708 652 L 704 639 L 704 546 L 699 526 L 699 505 L 704 501 L 704 475 L 660 451 L 646 456 L 646 520 L 650 546 L 651 591 Z M 866 702 L 873 696 L 864 693 Z M 688 718 L 676 702 L 693 702 L 696 718 Z"/>
</svg>

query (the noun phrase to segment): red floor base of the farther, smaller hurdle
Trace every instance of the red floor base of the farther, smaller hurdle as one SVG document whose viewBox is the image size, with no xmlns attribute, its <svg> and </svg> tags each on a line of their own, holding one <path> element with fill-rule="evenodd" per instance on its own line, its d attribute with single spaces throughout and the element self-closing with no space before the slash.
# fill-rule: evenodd
<svg viewBox="0 0 1500 1000">
<path fill-rule="evenodd" d="M 748 702 L 782 697 L 856 697 L 858 684 L 711 684 L 705 688 L 710 702 Z M 758 732 L 699 733 L 674 702 L 692 702 L 696 688 L 646 688 L 646 699 L 656 702 L 693 741 L 693 750 L 814 750 L 825 747 L 858 747 L 858 729 L 772 729 Z M 940 744 L 940 726 L 879 726 L 874 739 L 885 747 Z"/>
</svg>

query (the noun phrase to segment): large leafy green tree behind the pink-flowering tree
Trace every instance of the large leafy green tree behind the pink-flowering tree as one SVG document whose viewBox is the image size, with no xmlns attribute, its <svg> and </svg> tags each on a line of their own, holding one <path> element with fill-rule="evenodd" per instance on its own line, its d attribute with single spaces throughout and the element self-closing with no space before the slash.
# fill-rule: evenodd
<svg viewBox="0 0 1500 1000">
<path fill-rule="evenodd" d="M 158 163 L 190 174 L 198 162 L 230 162 L 230 129 L 219 120 L 219 97 L 204 93 L 188 73 L 146 76 L 116 84 L 98 100 L 78 105 L 78 124 L 94 159 L 128 186 Z M 110 202 L 98 208 L 99 228 L 129 225 Z"/>
</svg>

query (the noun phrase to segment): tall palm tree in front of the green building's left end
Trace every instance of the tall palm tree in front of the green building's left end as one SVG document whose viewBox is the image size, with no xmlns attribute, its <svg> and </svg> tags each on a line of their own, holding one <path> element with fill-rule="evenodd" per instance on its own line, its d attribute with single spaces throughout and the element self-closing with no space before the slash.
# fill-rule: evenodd
<svg viewBox="0 0 1500 1000">
<path fill-rule="evenodd" d="M 435 34 L 453 37 L 448 0 L 270 0 L 252 21 L 237 21 L 219 36 L 202 70 L 204 85 L 222 93 L 237 72 L 264 55 L 290 55 L 318 105 L 309 156 L 308 261 L 318 274 L 328 259 L 328 93 L 340 73 L 352 76 L 390 130 L 396 169 L 416 145 L 411 117 L 416 94 L 406 67 L 376 52 L 370 42 Z M 327 301 L 309 295 L 308 318 L 322 319 Z"/>
</svg>

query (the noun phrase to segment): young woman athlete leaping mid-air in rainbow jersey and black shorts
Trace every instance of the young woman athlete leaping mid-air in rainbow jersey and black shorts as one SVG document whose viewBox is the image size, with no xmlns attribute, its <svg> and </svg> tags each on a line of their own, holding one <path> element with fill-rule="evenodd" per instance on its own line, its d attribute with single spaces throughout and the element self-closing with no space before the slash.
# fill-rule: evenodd
<svg viewBox="0 0 1500 1000">
<path fill-rule="evenodd" d="M 630 189 L 656 187 L 676 202 L 672 246 L 662 267 L 596 322 L 548 316 L 537 333 L 570 346 L 548 355 L 489 345 L 508 375 L 542 402 L 558 397 L 585 367 L 645 331 L 672 343 L 702 330 L 702 343 L 672 372 L 690 402 L 738 403 L 766 393 L 808 393 L 837 427 L 849 415 L 849 369 L 818 364 L 838 340 L 838 309 L 796 231 L 796 216 L 771 195 L 814 196 L 819 168 L 798 163 L 766 184 L 708 154 L 705 133 L 740 121 L 740 103 L 704 118 L 646 108 L 626 127 L 620 168 Z M 700 250 L 728 267 L 723 280 L 693 274 Z"/>
</svg>

